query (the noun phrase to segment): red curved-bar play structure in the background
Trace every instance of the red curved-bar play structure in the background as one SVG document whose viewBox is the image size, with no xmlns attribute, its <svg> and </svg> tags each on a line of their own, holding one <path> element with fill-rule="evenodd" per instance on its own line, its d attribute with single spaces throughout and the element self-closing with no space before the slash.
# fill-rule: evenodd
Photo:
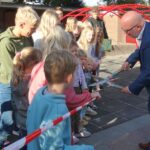
<svg viewBox="0 0 150 150">
<path fill-rule="evenodd" d="M 89 11 L 91 8 L 80 8 L 66 14 L 62 19 L 67 17 L 80 18 L 82 21 L 89 17 Z M 99 6 L 100 18 L 103 18 L 106 14 L 112 13 L 118 17 L 121 17 L 126 11 L 133 10 L 142 14 L 146 20 L 150 20 L 150 6 L 144 6 L 140 4 L 124 4 L 124 5 L 110 5 L 110 6 Z"/>
</svg>

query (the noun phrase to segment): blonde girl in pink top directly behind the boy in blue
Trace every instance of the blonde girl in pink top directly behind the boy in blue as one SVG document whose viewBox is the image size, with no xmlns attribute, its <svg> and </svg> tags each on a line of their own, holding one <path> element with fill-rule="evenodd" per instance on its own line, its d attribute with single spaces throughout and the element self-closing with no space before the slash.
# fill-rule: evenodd
<svg viewBox="0 0 150 150">
<path fill-rule="evenodd" d="M 43 70 L 46 56 L 55 50 L 69 50 L 71 36 L 62 27 L 56 26 L 51 34 L 43 39 L 43 43 L 43 61 L 38 63 L 31 73 L 29 103 L 32 102 L 32 98 L 37 90 L 47 84 Z"/>
</svg>

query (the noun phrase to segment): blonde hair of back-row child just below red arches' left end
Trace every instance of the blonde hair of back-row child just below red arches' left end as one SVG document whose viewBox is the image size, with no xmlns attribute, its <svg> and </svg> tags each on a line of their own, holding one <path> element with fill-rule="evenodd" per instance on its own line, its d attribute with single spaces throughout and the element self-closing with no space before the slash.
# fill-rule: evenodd
<svg viewBox="0 0 150 150">
<path fill-rule="evenodd" d="M 74 25 L 77 25 L 78 20 L 73 17 L 68 17 L 66 22 L 66 31 L 67 32 L 73 32 L 74 31 Z"/>
</svg>

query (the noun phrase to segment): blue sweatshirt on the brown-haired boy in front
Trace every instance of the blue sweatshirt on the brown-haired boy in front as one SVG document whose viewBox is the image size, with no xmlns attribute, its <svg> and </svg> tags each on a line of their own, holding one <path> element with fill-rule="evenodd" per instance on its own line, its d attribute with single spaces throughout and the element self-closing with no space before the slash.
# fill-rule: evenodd
<svg viewBox="0 0 150 150">
<path fill-rule="evenodd" d="M 47 87 L 41 88 L 33 98 L 27 113 L 28 134 L 38 129 L 47 121 L 52 121 L 68 113 L 65 96 L 45 93 Z M 92 146 L 71 145 L 70 118 L 53 128 L 46 130 L 28 144 L 28 150 L 94 150 Z"/>
</svg>

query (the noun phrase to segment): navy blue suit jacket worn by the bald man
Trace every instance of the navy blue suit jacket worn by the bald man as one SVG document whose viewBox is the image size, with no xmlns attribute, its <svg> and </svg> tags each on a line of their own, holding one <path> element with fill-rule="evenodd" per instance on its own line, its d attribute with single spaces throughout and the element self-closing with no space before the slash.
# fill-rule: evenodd
<svg viewBox="0 0 150 150">
<path fill-rule="evenodd" d="M 134 53 L 132 53 L 127 61 L 134 66 L 137 61 L 140 61 L 140 74 L 129 85 L 129 90 L 138 95 L 141 90 L 146 87 L 150 91 L 150 23 L 146 22 L 141 45 Z M 150 92 L 149 92 L 150 95 Z"/>
</svg>

